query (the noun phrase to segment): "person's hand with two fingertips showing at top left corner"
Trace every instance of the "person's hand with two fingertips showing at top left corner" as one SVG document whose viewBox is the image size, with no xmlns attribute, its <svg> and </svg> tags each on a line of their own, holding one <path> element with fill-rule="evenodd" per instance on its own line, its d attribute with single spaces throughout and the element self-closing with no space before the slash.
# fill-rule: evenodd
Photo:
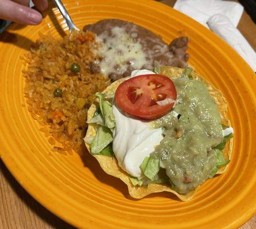
<svg viewBox="0 0 256 229">
<path fill-rule="evenodd" d="M 29 0 L 0 0 L 0 18 L 26 25 L 38 25 L 42 15 L 29 7 Z M 46 10 L 48 0 L 33 0 L 38 10 Z"/>
</svg>

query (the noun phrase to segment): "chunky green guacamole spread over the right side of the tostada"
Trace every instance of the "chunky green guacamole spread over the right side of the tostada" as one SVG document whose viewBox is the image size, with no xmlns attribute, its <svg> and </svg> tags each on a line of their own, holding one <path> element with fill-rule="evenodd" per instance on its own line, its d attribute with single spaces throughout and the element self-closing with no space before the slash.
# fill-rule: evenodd
<svg viewBox="0 0 256 229">
<path fill-rule="evenodd" d="M 172 112 L 153 122 L 154 128 L 164 128 L 165 136 L 151 156 L 160 159 L 172 189 L 186 194 L 214 169 L 214 147 L 222 143 L 223 133 L 218 106 L 203 82 L 187 77 L 173 82 L 177 102 Z"/>
</svg>

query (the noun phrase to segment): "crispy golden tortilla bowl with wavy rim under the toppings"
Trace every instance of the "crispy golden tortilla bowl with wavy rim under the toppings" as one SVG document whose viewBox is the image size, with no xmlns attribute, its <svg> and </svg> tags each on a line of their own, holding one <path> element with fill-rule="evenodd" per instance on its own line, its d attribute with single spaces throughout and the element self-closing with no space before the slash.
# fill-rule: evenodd
<svg viewBox="0 0 256 229">
<path fill-rule="evenodd" d="M 180 68 L 174 68 L 170 66 L 162 66 L 161 67 L 161 74 L 164 74 L 165 76 L 168 76 L 169 78 L 176 78 L 179 77 L 180 74 L 183 72 L 183 69 Z M 220 90 L 216 89 L 213 85 L 210 84 L 207 80 L 205 80 L 203 77 L 199 76 L 199 74 L 193 72 L 193 78 L 195 80 L 200 80 L 204 82 L 204 84 L 207 86 L 208 91 L 210 92 L 211 96 L 214 98 L 216 104 L 218 105 L 220 116 L 222 117 L 222 124 L 224 125 L 231 125 L 230 120 L 228 120 L 227 117 L 227 102 L 225 98 L 223 97 L 222 93 Z M 103 93 L 107 94 L 113 94 L 115 90 L 117 89 L 118 85 L 121 84 L 125 79 L 121 79 L 118 81 L 113 82 L 110 86 L 108 86 Z M 94 103 L 91 105 L 91 107 L 88 110 L 87 113 L 87 121 L 91 120 L 92 117 L 94 116 L 94 113 L 97 109 L 98 106 L 98 100 L 95 100 Z M 93 137 L 96 135 L 96 128 L 95 124 L 89 124 L 86 137 Z M 223 153 L 226 159 L 231 159 L 231 154 L 232 154 L 232 139 L 229 140 L 223 149 Z M 86 147 L 88 151 L 90 151 L 90 145 L 86 143 Z M 180 200 L 183 201 L 188 201 L 193 198 L 193 196 L 196 193 L 196 190 L 199 188 L 197 187 L 194 191 L 189 192 L 188 194 L 179 194 L 173 189 L 170 188 L 170 185 L 168 184 L 149 184 L 147 187 L 138 187 L 134 186 L 130 179 L 129 179 L 129 174 L 123 171 L 119 165 L 117 159 L 115 157 L 109 157 L 109 156 L 104 156 L 104 155 L 92 155 L 98 160 L 100 167 L 103 169 L 104 172 L 107 174 L 117 177 L 121 179 L 128 187 L 129 189 L 129 194 L 133 198 L 136 199 L 141 199 L 144 196 L 147 196 L 149 194 L 153 194 L 156 192 L 171 192 L 174 195 L 176 195 Z M 222 174 L 226 171 L 228 167 L 228 164 L 222 168 L 220 168 L 217 172 L 217 174 Z M 100 168 L 99 168 L 100 169 Z"/>
</svg>

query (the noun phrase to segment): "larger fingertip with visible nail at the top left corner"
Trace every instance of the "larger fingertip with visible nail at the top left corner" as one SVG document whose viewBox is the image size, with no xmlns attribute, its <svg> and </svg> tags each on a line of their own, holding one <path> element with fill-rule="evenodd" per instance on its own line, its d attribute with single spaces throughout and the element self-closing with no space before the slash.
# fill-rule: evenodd
<svg viewBox="0 0 256 229">
<path fill-rule="evenodd" d="M 0 18 L 26 25 L 37 25 L 42 21 L 38 11 L 9 0 L 0 1 Z"/>
</svg>

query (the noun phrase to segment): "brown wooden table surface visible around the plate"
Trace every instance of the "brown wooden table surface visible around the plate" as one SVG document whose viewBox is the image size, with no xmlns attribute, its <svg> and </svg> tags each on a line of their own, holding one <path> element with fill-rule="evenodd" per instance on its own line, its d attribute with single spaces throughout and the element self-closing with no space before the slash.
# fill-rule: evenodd
<svg viewBox="0 0 256 229">
<path fill-rule="evenodd" d="M 173 6 L 175 1 L 161 1 Z M 238 29 L 256 50 L 256 25 L 243 13 Z M 14 179 L 0 160 L 0 229 L 74 228 L 36 202 Z M 256 215 L 240 229 L 256 228 Z"/>
</svg>

